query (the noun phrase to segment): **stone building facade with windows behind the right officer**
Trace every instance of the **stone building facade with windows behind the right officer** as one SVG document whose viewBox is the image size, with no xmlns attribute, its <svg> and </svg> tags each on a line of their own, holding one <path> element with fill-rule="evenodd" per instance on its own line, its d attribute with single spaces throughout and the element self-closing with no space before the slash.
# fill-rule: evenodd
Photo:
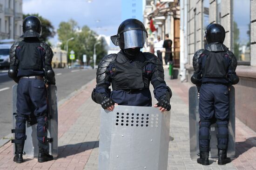
<svg viewBox="0 0 256 170">
<path fill-rule="evenodd" d="M 221 24 L 224 44 L 238 60 L 236 117 L 256 131 L 256 0 L 180 0 L 180 7 L 182 81 L 190 81 L 194 53 L 206 44 L 206 26 Z"/>
</svg>

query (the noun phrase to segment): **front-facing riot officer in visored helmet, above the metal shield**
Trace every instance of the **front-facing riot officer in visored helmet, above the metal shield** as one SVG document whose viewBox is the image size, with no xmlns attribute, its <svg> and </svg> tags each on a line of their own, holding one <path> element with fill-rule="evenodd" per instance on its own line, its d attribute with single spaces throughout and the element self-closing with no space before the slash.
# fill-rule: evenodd
<svg viewBox="0 0 256 170">
<path fill-rule="evenodd" d="M 164 81 L 161 61 L 152 53 L 141 52 L 147 46 L 148 33 L 137 19 L 121 23 L 112 42 L 121 48 L 117 54 L 102 58 L 96 73 L 97 85 L 92 99 L 101 107 L 113 111 L 114 104 L 125 106 L 152 106 L 149 83 L 154 87 L 155 107 L 170 110 L 171 89 Z M 113 91 L 109 86 L 112 85 Z"/>
</svg>

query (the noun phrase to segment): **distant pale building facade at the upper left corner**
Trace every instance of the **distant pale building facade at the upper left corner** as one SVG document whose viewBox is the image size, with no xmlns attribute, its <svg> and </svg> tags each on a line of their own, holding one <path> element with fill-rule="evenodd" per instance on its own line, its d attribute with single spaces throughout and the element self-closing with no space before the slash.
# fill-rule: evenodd
<svg viewBox="0 0 256 170">
<path fill-rule="evenodd" d="M 22 0 L 0 0 L 0 39 L 18 40 L 22 20 Z"/>
</svg>

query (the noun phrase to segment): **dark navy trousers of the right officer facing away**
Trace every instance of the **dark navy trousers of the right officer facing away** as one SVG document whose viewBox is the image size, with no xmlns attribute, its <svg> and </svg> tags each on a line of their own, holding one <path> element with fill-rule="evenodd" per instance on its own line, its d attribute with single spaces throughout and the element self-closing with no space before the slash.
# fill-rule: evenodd
<svg viewBox="0 0 256 170">
<path fill-rule="evenodd" d="M 202 84 L 199 98 L 199 149 L 209 151 L 209 127 L 216 118 L 219 149 L 228 147 L 229 89 L 223 84 Z"/>
</svg>

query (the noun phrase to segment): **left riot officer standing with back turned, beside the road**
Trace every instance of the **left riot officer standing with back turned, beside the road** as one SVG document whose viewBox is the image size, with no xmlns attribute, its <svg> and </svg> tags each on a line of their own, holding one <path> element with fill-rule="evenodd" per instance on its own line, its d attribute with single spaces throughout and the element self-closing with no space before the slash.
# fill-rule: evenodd
<svg viewBox="0 0 256 170">
<path fill-rule="evenodd" d="M 10 49 L 9 77 L 18 83 L 17 116 L 15 126 L 15 156 L 13 161 L 22 163 L 22 152 L 26 139 L 26 119 L 31 113 L 37 120 L 37 139 L 39 146 L 38 162 L 52 160 L 48 153 L 47 139 L 47 101 L 45 82 L 55 84 L 51 66 L 53 51 L 40 42 L 41 22 L 35 16 L 28 16 L 23 21 L 24 38 Z"/>
</svg>

